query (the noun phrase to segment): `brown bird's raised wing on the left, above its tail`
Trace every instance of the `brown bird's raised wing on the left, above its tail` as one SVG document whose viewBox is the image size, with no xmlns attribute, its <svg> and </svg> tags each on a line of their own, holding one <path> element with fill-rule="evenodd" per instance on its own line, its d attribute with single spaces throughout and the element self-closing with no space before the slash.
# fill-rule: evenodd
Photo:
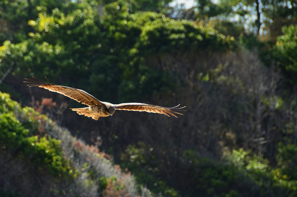
<svg viewBox="0 0 297 197">
<path fill-rule="evenodd" d="M 101 101 L 99 101 L 97 98 L 93 97 L 91 94 L 80 90 L 80 89 L 75 89 L 75 88 L 70 88 L 67 86 L 59 86 L 59 85 L 55 85 L 52 83 L 47 83 L 44 81 L 41 81 L 40 79 L 37 79 L 35 77 L 33 77 L 35 80 L 31 80 L 31 79 L 26 79 L 29 81 L 24 81 L 26 83 L 31 83 L 28 86 L 32 87 L 32 86 L 38 86 L 41 88 L 45 88 L 48 89 L 52 92 L 58 92 L 60 94 L 63 94 L 67 97 L 70 97 L 78 102 L 81 102 L 83 104 L 86 105 L 103 105 L 103 103 Z"/>
</svg>

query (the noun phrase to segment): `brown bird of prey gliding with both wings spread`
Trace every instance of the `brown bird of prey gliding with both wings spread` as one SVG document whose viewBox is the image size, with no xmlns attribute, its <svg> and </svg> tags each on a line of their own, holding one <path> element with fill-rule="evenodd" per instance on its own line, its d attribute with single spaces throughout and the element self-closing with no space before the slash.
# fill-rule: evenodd
<svg viewBox="0 0 297 197">
<path fill-rule="evenodd" d="M 88 105 L 89 107 L 71 109 L 73 111 L 76 111 L 78 114 L 83 114 L 85 116 L 92 117 L 95 120 L 98 120 L 99 117 L 112 116 L 116 110 L 146 111 L 152 113 L 165 114 L 166 116 L 173 115 L 177 118 L 175 114 L 181 114 L 177 111 L 183 111 L 181 109 L 186 107 L 184 106 L 182 108 L 177 108 L 179 106 L 177 105 L 176 107 L 165 108 L 156 105 L 148 105 L 144 103 L 121 103 L 115 105 L 108 102 L 99 101 L 91 94 L 80 89 L 70 88 L 67 86 L 59 86 L 51 83 L 49 80 L 48 81 L 50 83 L 47 83 L 35 77 L 33 78 L 35 80 L 26 79 L 28 81 L 24 82 L 31 83 L 28 85 L 30 87 L 38 86 L 41 88 L 48 89 L 52 92 L 58 92 L 78 102 Z"/>
</svg>

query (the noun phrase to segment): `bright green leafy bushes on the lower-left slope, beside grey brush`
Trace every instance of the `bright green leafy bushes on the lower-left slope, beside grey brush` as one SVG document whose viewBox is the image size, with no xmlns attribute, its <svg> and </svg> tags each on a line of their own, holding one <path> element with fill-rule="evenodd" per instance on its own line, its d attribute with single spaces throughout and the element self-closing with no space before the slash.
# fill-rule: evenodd
<svg viewBox="0 0 297 197">
<path fill-rule="evenodd" d="M 0 151 L 4 154 L 12 152 L 38 169 L 48 170 L 53 176 L 71 178 L 73 170 L 62 156 L 60 142 L 47 135 L 39 137 L 34 131 L 42 127 L 41 120 L 49 120 L 31 108 L 21 108 L 8 94 L 0 92 L 0 98 Z"/>
</svg>

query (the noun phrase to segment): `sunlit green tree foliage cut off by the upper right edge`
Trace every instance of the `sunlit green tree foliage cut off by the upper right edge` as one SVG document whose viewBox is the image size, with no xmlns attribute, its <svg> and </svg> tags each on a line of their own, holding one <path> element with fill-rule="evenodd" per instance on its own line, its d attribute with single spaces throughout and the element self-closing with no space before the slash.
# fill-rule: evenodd
<svg viewBox="0 0 297 197">
<path fill-rule="evenodd" d="M 291 83 L 296 84 L 297 74 L 297 26 L 284 26 L 284 35 L 277 37 L 274 55 L 279 67 L 287 75 Z"/>
</svg>

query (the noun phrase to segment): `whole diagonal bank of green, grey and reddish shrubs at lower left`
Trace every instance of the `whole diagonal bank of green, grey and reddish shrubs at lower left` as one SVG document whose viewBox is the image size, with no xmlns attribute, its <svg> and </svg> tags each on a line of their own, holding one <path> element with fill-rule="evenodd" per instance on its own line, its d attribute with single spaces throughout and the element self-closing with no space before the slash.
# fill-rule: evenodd
<svg viewBox="0 0 297 197">
<path fill-rule="evenodd" d="M 107 193 L 130 192 L 126 189 L 127 183 L 125 178 L 119 178 L 116 175 L 112 177 L 102 176 L 102 174 L 114 173 L 114 169 L 109 169 L 108 165 L 110 165 L 110 162 L 102 158 L 100 155 L 102 153 L 98 149 L 95 150 L 94 154 L 98 160 L 93 159 L 92 161 L 97 162 L 97 165 L 99 163 L 100 166 L 107 165 L 106 172 L 103 173 L 98 170 L 98 166 L 89 162 L 89 157 L 93 154 L 94 148 L 90 149 L 89 146 L 76 141 L 73 144 L 69 144 L 68 150 L 65 150 L 65 147 L 63 149 L 61 140 L 64 140 L 63 146 L 65 146 L 65 143 L 67 143 L 65 138 L 69 141 L 71 135 L 64 133 L 62 135 L 68 136 L 64 136 L 64 139 L 61 140 L 57 139 L 58 136 L 55 134 L 58 132 L 55 131 L 57 127 L 45 115 L 39 114 L 31 107 L 22 108 L 20 103 L 10 99 L 9 94 L 2 92 L 0 92 L 0 105 L 1 158 L 11 155 L 15 161 L 24 162 L 26 166 L 31 166 L 37 176 L 45 176 L 44 178 L 50 179 L 52 182 L 46 187 L 52 194 L 63 195 L 66 192 L 78 195 L 75 191 L 78 192 L 79 190 L 75 190 L 74 187 L 82 187 L 83 189 L 94 187 L 95 190 L 98 189 L 97 193 L 102 194 L 109 183 L 110 186 Z M 71 138 L 75 140 L 74 137 L 71 136 Z M 69 157 L 66 151 L 73 153 Z M 82 154 L 86 154 L 88 159 L 83 160 Z M 76 159 L 73 158 L 73 155 Z M 80 160 L 83 163 L 75 163 L 75 160 L 78 160 L 78 162 Z M 78 168 L 80 165 L 81 168 Z M 20 166 L 17 167 L 22 168 Z M 123 173 L 123 176 L 127 176 L 129 179 L 130 175 Z M 3 184 L 2 178 L 10 179 L 11 177 L 1 177 L 0 184 Z M 10 181 L 8 180 L 7 182 Z M 59 184 L 62 186 L 57 187 L 56 185 Z M 1 188 L 1 195 L 20 195 L 14 191 L 14 185 L 10 185 L 11 192 L 7 191 L 6 187 L 3 186 L 4 190 Z M 92 194 L 91 191 L 90 194 Z"/>
</svg>

